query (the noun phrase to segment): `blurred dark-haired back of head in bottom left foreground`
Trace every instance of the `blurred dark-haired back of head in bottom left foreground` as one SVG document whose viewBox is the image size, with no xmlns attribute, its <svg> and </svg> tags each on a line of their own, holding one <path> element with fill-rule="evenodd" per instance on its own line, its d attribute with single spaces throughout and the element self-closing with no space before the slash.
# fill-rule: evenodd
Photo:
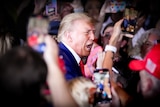
<svg viewBox="0 0 160 107">
<path fill-rule="evenodd" d="M 47 66 L 30 47 L 16 47 L 0 57 L 0 105 L 39 107 Z"/>
</svg>

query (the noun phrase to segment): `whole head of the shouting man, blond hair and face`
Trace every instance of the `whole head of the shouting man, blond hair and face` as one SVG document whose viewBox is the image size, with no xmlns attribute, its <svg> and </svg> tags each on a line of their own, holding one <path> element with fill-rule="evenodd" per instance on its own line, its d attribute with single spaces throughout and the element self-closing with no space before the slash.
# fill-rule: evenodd
<svg viewBox="0 0 160 107">
<path fill-rule="evenodd" d="M 88 56 L 95 37 L 92 19 L 83 13 L 72 13 L 61 21 L 58 40 L 69 45 L 80 57 Z"/>
</svg>

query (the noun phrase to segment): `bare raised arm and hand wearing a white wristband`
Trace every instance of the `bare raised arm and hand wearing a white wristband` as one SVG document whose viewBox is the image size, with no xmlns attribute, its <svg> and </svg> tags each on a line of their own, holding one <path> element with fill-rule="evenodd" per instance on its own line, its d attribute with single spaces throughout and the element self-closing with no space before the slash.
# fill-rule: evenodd
<svg viewBox="0 0 160 107">
<path fill-rule="evenodd" d="M 116 47 L 117 43 L 122 40 L 122 37 L 123 37 L 123 34 L 121 32 L 122 21 L 123 21 L 123 19 L 119 20 L 114 25 L 113 34 L 112 34 L 111 39 L 109 41 L 109 46 Z M 131 35 L 125 35 L 125 36 L 132 37 Z M 117 96 L 119 97 L 118 99 L 120 100 L 122 106 L 125 106 L 131 100 L 131 97 L 120 86 L 118 86 L 118 84 L 114 80 L 114 73 L 112 72 L 113 57 L 114 57 L 114 52 L 110 49 L 107 49 L 107 52 L 105 53 L 105 58 L 103 61 L 103 68 L 109 69 L 110 82 L 111 82 L 111 86 L 112 86 L 112 93 L 113 93 L 113 90 L 115 90 L 113 96 L 117 94 Z M 117 101 L 119 101 L 117 99 L 117 97 L 113 97 L 113 98 L 115 98 L 115 99 L 113 99 L 114 105 L 119 105 L 120 103 L 117 102 Z M 116 102 L 115 102 L 115 100 L 116 100 Z"/>
</svg>

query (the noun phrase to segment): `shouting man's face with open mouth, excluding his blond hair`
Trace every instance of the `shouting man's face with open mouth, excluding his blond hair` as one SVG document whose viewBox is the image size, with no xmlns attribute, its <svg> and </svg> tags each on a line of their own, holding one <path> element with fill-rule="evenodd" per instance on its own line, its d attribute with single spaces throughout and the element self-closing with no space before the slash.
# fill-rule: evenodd
<svg viewBox="0 0 160 107">
<path fill-rule="evenodd" d="M 71 35 L 71 47 L 80 56 L 88 56 L 94 40 L 95 28 L 93 24 L 85 20 L 77 20 L 74 22 Z"/>
</svg>

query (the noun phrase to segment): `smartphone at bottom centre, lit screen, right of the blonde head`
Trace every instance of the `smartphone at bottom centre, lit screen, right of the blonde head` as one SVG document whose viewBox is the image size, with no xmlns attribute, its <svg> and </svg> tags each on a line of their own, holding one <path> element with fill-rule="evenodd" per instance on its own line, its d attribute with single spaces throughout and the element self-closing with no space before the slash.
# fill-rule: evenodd
<svg viewBox="0 0 160 107">
<path fill-rule="evenodd" d="M 93 82 L 97 89 L 94 104 L 104 104 L 112 101 L 111 86 L 108 69 L 96 69 L 93 74 Z"/>
</svg>

